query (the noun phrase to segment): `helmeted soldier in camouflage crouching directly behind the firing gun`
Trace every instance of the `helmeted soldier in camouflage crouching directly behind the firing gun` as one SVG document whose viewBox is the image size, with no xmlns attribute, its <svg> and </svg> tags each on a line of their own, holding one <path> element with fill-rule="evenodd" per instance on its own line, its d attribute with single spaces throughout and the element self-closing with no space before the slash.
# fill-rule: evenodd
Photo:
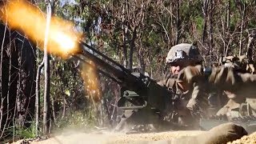
<svg viewBox="0 0 256 144">
<path fill-rule="evenodd" d="M 183 82 L 182 77 L 184 77 L 183 68 L 187 66 L 195 66 L 196 70 L 190 71 L 192 76 L 197 75 L 193 74 L 194 72 L 201 73 L 198 70 L 202 68 L 202 55 L 194 45 L 178 44 L 173 46 L 167 54 L 166 66 L 167 76 L 158 84 L 166 86 L 176 94 L 176 98 L 182 99 L 177 107 L 178 123 L 190 128 L 198 128 L 198 111 L 209 107 L 205 84 L 202 78 L 197 82 L 188 83 Z"/>
</svg>

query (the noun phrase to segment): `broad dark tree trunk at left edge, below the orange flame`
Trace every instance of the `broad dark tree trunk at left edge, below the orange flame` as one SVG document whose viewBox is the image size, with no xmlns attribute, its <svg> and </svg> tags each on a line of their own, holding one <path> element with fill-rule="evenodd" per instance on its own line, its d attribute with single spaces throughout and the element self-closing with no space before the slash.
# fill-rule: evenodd
<svg viewBox="0 0 256 144">
<path fill-rule="evenodd" d="M 35 46 L 22 34 L 1 24 L 1 135 L 14 126 L 30 126 L 34 115 Z M 16 122 L 16 126 L 13 121 Z"/>
</svg>

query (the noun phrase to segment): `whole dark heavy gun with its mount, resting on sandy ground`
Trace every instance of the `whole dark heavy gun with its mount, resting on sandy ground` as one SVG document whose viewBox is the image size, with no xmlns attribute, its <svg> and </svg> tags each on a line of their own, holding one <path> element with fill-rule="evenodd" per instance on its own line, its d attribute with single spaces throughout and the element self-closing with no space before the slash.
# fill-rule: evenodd
<svg viewBox="0 0 256 144">
<path fill-rule="evenodd" d="M 158 85 L 144 74 L 126 69 L 85 42 L 79 43 L 80 50 L 72 57 L 89 65 L 90 61 L 93 62 L 99 73 L 121 86 L 118 107 L 123 110 L 121 121 L 125 122 L 120 122 L 117 130 L 121 130 L 124 124 L 159 125 L 166 114 L 175 114 L 174 103 L 178 100 L 173 98 L 174 94 L 166 87 Z"/>
</svg>

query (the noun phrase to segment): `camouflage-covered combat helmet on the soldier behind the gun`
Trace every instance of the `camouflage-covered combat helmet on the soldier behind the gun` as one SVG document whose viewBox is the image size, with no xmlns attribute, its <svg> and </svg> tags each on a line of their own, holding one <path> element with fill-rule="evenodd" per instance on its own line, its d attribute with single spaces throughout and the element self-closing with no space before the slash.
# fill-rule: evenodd
<svg viewBox="0 0 256 144">
<path fill-rule="evenodd" d="M 196 46 L 181 43 L 170 48 L 166 57 L 166 64 L 174 62 L 202 62 L 202 55 Z"/>
</svg>

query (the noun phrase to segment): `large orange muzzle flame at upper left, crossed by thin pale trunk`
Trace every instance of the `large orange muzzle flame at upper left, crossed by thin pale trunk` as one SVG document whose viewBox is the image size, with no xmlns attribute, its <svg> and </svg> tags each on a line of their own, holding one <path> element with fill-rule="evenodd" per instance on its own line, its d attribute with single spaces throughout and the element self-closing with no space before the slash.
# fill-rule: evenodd
<svg viewBox="0 0 256 144">
<path fill-rule="evenodd" d="M 42 49 L 46 32 L 46 14 L 23 0 L 8 1 L 0 7 L 0 18 L 10 29 L 22 31 Z M 48 52 L 66 58 L 78 52 L 78 39 L 82 34 L 74 31 L 72 22 L 52 17 L 48 35 Z"/>
</svg>

